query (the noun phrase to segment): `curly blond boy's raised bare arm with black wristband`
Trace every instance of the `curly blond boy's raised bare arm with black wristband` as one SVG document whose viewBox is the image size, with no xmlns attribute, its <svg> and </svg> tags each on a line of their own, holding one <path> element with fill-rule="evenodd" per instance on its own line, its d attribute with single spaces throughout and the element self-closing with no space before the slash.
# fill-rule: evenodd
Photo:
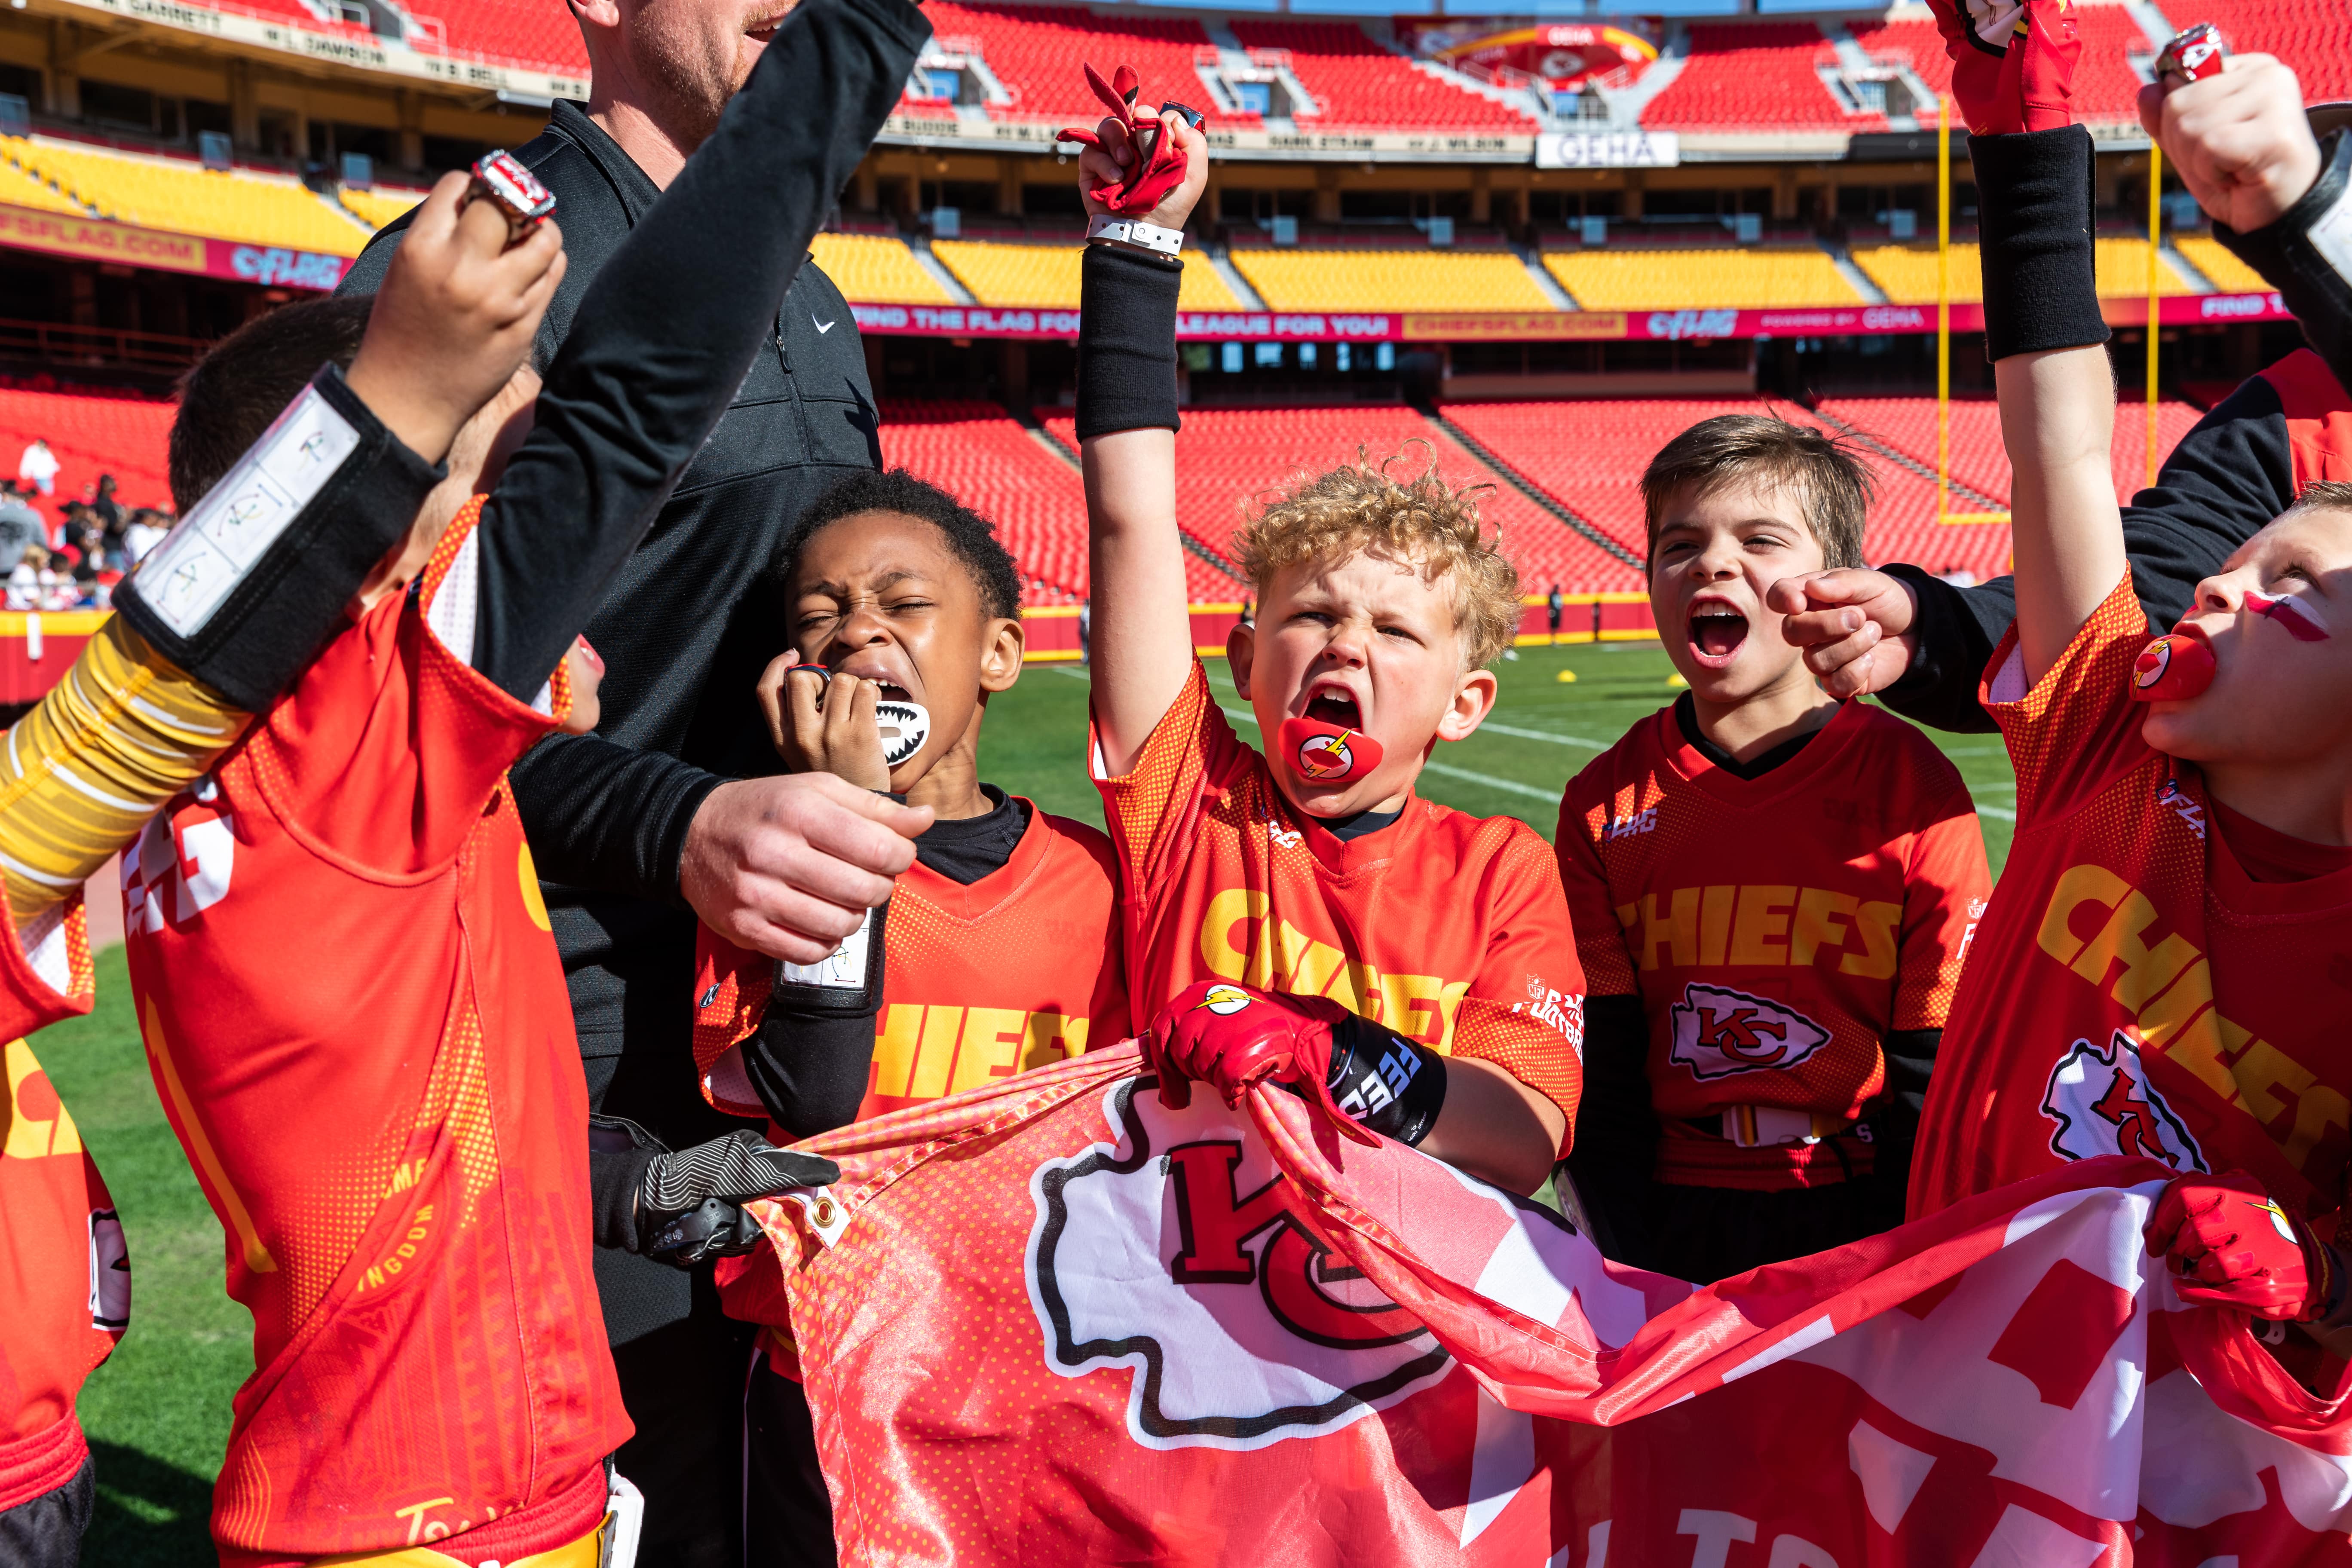
<svg viewBox="0 0 2352 1568">
<path fill-rule="evenodd" d="M 1209 181 L 1209 141 L 1181 115 L 1162 134 L 1185 148 L 1185 179 L 1145 223 L 1183 228 Z M 1080 155 L 1091 186 L 1117 183 L 1127 129 L 1103 120 Z M 1124 773 L 1192 675 L 1192 614 L 1176 531 L 1176 292 L 1183 266 L 1112 240 L 1087 247 L 1077 327 L 1077 435 L 1087 465 L 1087 597 L 1094 604 L 1094 724 L 1103 769 Z"/>
</svg>

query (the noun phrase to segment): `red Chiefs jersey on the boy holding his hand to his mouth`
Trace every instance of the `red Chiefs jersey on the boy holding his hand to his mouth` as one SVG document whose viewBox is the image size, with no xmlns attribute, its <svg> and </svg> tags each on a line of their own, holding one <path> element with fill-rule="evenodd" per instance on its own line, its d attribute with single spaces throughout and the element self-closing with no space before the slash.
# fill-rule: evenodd
<svg viewBox="0 0 2352 1568">
<path fill-rule="evenodd" d="M 920 860 L 898 872 L 858 1121 L 1129 1037 L 1110 839 L 1021 804 L 1021 842 L 978 882 L 950 882 Z M 764 1117 L 734 1046 L 760 1027 L 776 966 L 708 926 L 696 940 L 703 1095 L 724 1112 Z"/>
</svg>

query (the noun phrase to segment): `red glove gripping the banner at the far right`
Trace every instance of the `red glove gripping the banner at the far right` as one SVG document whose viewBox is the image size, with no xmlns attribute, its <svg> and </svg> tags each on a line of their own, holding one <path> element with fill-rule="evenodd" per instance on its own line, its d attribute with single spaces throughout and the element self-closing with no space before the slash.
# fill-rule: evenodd
<svg viewBox="0 0 2352 1568">
<path fill-rule="evenodd" d="M 2310 1324 L 2336 1305 L 2336 1255 L 2244 1171 L 2183 1175 L 2147 1220 L 2180 1300 Z"/>
</svg>

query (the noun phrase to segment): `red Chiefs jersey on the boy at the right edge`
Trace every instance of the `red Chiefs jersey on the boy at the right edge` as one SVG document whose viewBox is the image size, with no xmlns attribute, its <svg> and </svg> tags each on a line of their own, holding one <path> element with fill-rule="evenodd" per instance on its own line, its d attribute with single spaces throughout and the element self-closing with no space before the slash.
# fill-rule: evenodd
<svg viewBox="0 0 2352 1568">
<path fill-rule="evenodd" d="M 2117 583 L 2027 691 L 2016 630 L 1985 710 L 2018 837 L 1976 929 L 1919 1126 L 1910 1211 L 2070 1159 L 2253 1173 L 2333 1232 L 2345 1201 L 2352 872 L 2253 882 L 2204 776 L 2140 738 L 2147 618 Z"/>
</svg>

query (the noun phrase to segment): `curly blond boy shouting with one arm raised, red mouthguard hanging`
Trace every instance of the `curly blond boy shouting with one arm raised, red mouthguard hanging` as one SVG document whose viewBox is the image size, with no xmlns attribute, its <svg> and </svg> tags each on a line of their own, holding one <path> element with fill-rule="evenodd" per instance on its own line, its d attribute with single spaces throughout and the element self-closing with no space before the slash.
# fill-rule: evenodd
<svg viewBox="0 0 2352 1568">
<path fill-rule="evenodd" d="M 1087 148 L 1077 433 L 1094 597 L 1094 776 L 1127 898 L 1127 971 L 1162 1093 L 1258 1077 L 1329 1095 L 1376 1133 L 1534 1192 L 1576 1114 L 1583 976 L 1550 846 L 1524 823 L 1414 795 L 1437 741 L 1486 717 L 1517 574 L 1435 473 L 1371 465 L 1296 487 L 1237 536 L 1258 602 L 1228 639 L 1270 755 L 1235 736 L 1192 654 L 1176 531 L 1176 284 L 1169 254 L 1207 143 L 1162 118 L 1185 181 L 1148 221 L 1124 127 Z M 1108 230 L 1108 233 L 1103 233 Z M 1200 266 L 1200 263 L 1195 263 Z M 1242 983 L 1249 1001 L 1204 1001 Z M 1265 992 L 1289 992 L 1268 997 Z"/>
</svg>

